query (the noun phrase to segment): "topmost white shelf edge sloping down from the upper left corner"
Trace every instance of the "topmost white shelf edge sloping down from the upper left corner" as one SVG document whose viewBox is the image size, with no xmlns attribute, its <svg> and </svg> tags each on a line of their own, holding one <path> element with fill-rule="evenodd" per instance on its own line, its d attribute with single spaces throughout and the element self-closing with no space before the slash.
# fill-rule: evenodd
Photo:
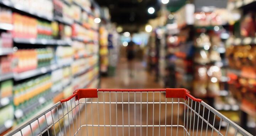
<svg viewBox="0 0 256 136">
<path fill-rule="evenodd" d="M 0 4 L 5 5 L 5 6 L 9 7 L 9 8 L 15 9 L 17 11 L 22 11 L 22 12 L 31 14 L 31 15 L 36 16 L 38 18 L 46 19 L 48 21 L 52 21 L 53 20 L 53 17 L 44 15 L 44 14 L 39 13 L 37 11 L 34 11 L 34 10 L 30 9 L 30 8 L 23 7 L 22 5 L 14 4 L 10 0 L 1 0 Z"/>
</svg>

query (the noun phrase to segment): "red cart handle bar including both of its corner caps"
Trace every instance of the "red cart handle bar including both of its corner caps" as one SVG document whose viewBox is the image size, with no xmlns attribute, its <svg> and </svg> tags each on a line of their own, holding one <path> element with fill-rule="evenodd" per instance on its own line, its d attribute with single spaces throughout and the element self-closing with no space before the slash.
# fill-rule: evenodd
<svg viewBox="0 0 256 136">
<path fill-rule="evenodd" d="M 201 99 L 196 99 L 193 97 L 187 89 L 184 88 L 166 88 L 166 89 L 78 89 L 75 90 L 73 95 L 69 96 L 67 99 L 60 100 L 60 102 L 66 102 L 75 97 L 76 100 L 81 98 L 97 98 L 98 91 L 122 91 L 122 92 L 146 92 L 146 91 L 165 91 L 166 98 L 183 98 L 187 100 L 189 97 L 193 101 L 201 102 Z"/>
</svg>

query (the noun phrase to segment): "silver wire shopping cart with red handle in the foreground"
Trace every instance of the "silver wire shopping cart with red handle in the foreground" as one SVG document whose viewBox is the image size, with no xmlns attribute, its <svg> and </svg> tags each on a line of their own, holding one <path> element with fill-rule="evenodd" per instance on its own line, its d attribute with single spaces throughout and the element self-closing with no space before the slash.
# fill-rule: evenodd
<svg viewBox="0 0 256 136">
<path fill-rule="evenodd" d="M 186 89 L 78 89 L 12 135 L 252 136 Z"/>
</svg>

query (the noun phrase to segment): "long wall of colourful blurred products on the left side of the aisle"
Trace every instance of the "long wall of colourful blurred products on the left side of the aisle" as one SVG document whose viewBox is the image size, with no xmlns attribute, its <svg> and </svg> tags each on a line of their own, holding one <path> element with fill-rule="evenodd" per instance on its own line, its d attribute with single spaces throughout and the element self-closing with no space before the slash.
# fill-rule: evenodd
<svg viewBox="0 0 256 136">
<path fill-rule="evenodd" d="M 97 88 L 98 13 L 90 0 L 0 1 L 0 134 L 75 89 Z"/>
</svg>

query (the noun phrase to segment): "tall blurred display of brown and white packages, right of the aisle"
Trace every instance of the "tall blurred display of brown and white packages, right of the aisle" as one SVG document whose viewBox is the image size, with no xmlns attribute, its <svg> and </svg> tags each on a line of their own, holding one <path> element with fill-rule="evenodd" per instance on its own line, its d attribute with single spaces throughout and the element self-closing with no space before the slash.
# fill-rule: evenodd
<svg viewBox="0 0 256 136">
<path fill-rule="evenodd" d="M 223 9 L 194 14 L 193 93 L 239 123 L 239 106 L 228 91 L 225 45 L 228 13 Z M 222 123 L 222 126 L 226 124 Z"/>
</svg>

